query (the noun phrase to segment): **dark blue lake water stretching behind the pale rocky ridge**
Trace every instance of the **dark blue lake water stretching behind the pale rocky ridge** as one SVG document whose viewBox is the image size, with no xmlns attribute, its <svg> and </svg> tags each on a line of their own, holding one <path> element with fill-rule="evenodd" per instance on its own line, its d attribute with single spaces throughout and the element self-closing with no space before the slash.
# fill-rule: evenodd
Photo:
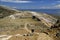
<svg viewBox="0 0 60 40">
<path fill-rule="evenodd" d="M 56 16 L 60 16 L 60 9 L 18 9 L 18 10 L 29 10 L 34 12 L 42 12 L 47 14 L 53 14 Z"/>
</svg>

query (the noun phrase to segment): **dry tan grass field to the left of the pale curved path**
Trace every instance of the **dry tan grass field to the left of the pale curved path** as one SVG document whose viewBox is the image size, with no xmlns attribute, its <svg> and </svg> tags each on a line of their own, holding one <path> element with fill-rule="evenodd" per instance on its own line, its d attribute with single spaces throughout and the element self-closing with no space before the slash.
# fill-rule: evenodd
<svg viewBox="0 0 60 40">
<path fill-rule="evenodd" d="M 6 17 L 0 20 L 0 34 L 15 34 L 15 33 L 22 34 L 26 31 L 23 29 L 25 26 L 25 23 L 37 24 L 39 22 L 36 20 L 33 20 L 32 18 L 10 19 Z"/>
</svg>

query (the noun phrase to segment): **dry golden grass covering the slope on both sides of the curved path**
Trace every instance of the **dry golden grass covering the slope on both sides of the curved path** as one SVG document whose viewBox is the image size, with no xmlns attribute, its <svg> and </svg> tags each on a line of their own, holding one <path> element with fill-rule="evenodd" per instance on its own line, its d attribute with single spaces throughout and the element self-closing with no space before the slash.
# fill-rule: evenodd
<svg viewBox="0 0 60 40">
<path fill-rule="evenodd" d="M 40 21 L 37 21 L 36 19 L 32 19 L 32 18 L 20 18 L 20 19 L 11 19 L 9 17 L 5 17 L 3 19 L 0 19 L 0 34 L 7 34 L 7 35 L 15 35 L 15 34 L 28 34 L 29 32 L 27 32 L 24 27 L 25 27 L 25 23 L 29 23 L 30 25 L 28 25 L 28 29 L 34 29 L 35 32 L 41 33 L 41 32 L 47 32 L 48 35 L 50 37 L 55 38 L 53 40 L 59 40 L 60 38 L 57 38 L 55 35 L 58 32 L 58 28 L 56 29 L 50 29 L 47 30 L 48 28 Z M 33 26 L 31 26 L 33 25 Z M 37 40 L 37 37 L 42 37 L 41 39 L 38 40 L 52 40 L 49 36 L 45 35 L 45 34 L 40 34 L 40 36 L 36 36 L 36 34 L 34 34 L 33 36 L 22 36 L 22 37 L 16 37 L 13 36 L 11 39 L 9 40 Z M 47 36 L 47 37 L 46 37 Z M 45 38 L 46 37 L 46 38 Z M 49 37 L 49 38 L 48 38 Z M 45 39 L 43 39 L 45 38 Z M 47 39 L 48 38 L 48 39 Z"/>
</svg>

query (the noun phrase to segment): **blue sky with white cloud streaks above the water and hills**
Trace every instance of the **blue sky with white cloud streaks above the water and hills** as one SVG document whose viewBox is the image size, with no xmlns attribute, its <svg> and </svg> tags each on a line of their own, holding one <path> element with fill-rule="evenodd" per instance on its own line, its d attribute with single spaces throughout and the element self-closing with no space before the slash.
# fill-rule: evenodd
<svg viewBox="0 0 60 40">
<path fill-rule="evenodd" d="M 0 5 L 17 9 L 60 9 L 60 0 L 0 0 Z"/>
</svg>

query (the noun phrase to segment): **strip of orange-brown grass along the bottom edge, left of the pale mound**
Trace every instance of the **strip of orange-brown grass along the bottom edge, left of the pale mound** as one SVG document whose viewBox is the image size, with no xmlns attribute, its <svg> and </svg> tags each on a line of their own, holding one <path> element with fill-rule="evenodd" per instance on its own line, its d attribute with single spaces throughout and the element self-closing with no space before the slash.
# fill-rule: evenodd
<svg viewBox="0 0 60 40">
<path fill-rule="evenodd" d="M 34 34 L 33 36 L 13 36 L 9 40 L 37 40 L 38 35 Z"/>
</svg>

